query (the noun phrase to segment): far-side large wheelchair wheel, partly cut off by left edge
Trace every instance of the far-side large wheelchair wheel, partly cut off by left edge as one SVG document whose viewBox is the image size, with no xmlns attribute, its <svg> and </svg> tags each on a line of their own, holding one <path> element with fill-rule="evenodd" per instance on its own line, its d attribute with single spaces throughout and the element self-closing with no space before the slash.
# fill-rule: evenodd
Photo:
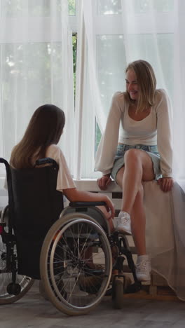
<svg viewBox="0 0 185 328">
<path fill-rule="evenodd" d="M 8 207 L 5 208 L 4 212 Z M 6 222 L 5 231 L 8 231 L 8 217 L 1 214 L 1 222 Z M 12 273 L 6 270 L 6 244 L 0 235 L 0 304 L 8 304 L 18 301 L 32 287 L 34 279 L 25 275 L 16 274 L 16 282 L 12 283 Z M 16 245 L 14 245 L 14 256 L 17 257 Z M 15 260 L 16 261 L 16 260 Z"/>
</svg>

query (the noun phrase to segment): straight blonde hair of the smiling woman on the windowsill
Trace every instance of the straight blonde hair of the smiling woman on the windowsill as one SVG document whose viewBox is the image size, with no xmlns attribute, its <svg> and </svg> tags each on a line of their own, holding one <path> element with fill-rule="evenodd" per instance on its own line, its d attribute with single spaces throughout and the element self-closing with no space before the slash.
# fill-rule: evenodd
<svg viewBox="0 0 185 328">
<path fill-rule="evenodd" d="M 154 105 L 154 95 L 156 91 L 156 76 L 149 62 L 145 60 L 135 60 L 128 64 L 125 69 L 127 72 L 129 69 L 135 72 L 137 83 L 139 86 L 139 98 L 137 102 L 137 111 L 144 111 Z M 128 100 L 132 103 L 129 93 L 126 91 Z"/>
</svg>

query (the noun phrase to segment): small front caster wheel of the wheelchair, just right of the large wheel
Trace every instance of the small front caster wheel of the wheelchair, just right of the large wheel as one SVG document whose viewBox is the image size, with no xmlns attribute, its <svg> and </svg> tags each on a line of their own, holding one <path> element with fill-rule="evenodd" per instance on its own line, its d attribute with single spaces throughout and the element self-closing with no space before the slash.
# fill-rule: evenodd
<svg viewBox="0 0 185 328">
<path fill-rule="evenodd" d="M 123 308 L 124 277 L 115 277 L 112 285 L 112 302 L 114 308 Z"/>
</svg>

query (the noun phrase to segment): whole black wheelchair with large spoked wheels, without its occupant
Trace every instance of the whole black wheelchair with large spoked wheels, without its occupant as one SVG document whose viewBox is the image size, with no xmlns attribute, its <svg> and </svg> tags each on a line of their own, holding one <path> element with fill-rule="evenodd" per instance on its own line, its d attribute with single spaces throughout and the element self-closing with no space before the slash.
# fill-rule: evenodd
<svg viewBox="0 0 185 328">
<path fill-rule="evenodd" d="M 142 285 L 125 235 L 110 233 L 94 203 L 69 203 L 56 190 L 58 165 L 52 158 L 15 170 L 4 158 L 8 205 L 0 221 L 0 305 L 22 298 L 41 280 L 46 298 L 62 313 L 83 315 L 104 296 L 122 308 L 124 293 Z M 114 258 L 114 261 L 112 260 Z M 123 261 L 134 282 L 127 286 Z M 113 269 L 116 275 L 112 275 Z"/>
</svg>

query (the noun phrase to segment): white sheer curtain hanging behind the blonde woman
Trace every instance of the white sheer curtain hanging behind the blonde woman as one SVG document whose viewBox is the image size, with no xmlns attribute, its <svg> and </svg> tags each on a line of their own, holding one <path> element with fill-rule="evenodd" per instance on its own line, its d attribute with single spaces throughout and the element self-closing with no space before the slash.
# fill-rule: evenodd
<svg viewBox="0 0 185 328">
<path fill-rule="evenodd" d="M 156 72 L 157 88 L 165 88 L 172 100 L 174 174 L 181 182 L 185 177 L 184 8 L 183 0 L 82 0 L 83 34 L 78 34 L 85 44 L 82 116 L 87 124 L 92 117 L 94 144 L 100 139 L 96 121 L 103 132 L 112 95 L 125 90 L 126 65 L 132 60 L 147 60 Z M 85 133 L 83 128 L 79 144 L 86 153 L 88 144 L 94 163 L 95 151 L 92 153 Z M 81 157 L 81 177 L 94 176 L 93 164 L 89 166 Z"/>
</svg>

